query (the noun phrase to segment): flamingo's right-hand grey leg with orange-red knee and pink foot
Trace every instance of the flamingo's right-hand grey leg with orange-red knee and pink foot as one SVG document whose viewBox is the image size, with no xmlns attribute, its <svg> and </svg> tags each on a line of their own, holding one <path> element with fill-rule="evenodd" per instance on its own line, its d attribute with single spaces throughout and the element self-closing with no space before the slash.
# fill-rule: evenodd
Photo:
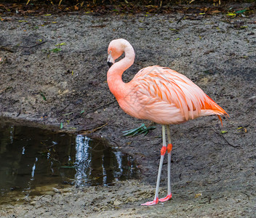
<svg viewBox="0 0 256 218">
<path fill-rule="evenodd" d="M 167 138 L 168 138 L 168 145 L 167 145 L 167 153 L 168 153 L 168 167 L 167 167 L 167 173 L 168 173 L 168 193 L 165 198 L 159 199 L 159 201 L 169 201 L 169 199 L 172 198 L 172 192 L 171 192 L 171 151 L 172 151 L 172 142 L 171 142 L 171 133 L 169 131 L 169 125 L 167 125 Z"/>
</svg>

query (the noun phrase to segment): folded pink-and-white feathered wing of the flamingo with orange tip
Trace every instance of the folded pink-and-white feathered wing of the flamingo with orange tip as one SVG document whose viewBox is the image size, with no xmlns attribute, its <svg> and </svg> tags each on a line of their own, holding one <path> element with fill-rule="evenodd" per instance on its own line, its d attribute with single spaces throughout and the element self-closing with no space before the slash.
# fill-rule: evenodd
<svg viewBox="0 0 256 218">
<path fill-rule="evenodd" d="M 209 111 L 216 115 L 227 114 L 199 86 L 183 74 L 169 68 L 143 68 L 130 83 L 137 87 L 140 104 L 151 105 L 151 108 L 172 105 L 180 111 L 185 118 L 184 121 L 210 115 Z M 201 110 L 207 111 L 207 114 L 201 114 Z"/>
</svg>

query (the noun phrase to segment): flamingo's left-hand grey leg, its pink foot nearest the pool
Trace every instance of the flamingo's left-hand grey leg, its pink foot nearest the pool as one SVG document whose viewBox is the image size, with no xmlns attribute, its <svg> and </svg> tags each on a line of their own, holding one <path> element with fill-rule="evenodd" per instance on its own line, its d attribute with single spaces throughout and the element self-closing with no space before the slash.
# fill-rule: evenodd
<svg viewBox="0 0 256 218">
<path fill-rule="evenodd" d="M 167 151 L 167 142 L 166 142 L 166 137 L 165 137 L 165 126 L 164 125 L 162 125 L 162 134 L 163 134 L 163 147 L 161 148 L 159 173 L 157 174 L 156 194 L 155 194 L 155 198 L 153 198 L 153 201 L 148 201 L 148 202 L 142 204 L 145 206 L 151 206 L 151 205 L 155 205 L 156 203 L 159 203 L 159 185 L 160 185 L 160 177 L 161 177 L 161 168 L 162 168 L 163 162 L 164 162 L 164 154 Z"/>
</svg>

